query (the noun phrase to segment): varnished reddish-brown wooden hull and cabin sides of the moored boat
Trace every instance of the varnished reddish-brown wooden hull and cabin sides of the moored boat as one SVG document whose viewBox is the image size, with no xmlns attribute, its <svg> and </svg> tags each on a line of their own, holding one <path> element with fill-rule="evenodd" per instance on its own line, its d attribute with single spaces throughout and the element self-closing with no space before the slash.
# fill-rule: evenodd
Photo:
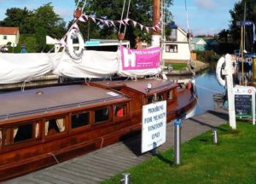
<svg viewBox="0 0 256 184">
<path fill-rule="evenodd" d="M 98 86 L 97 88 L 99 88 L 100 84 L 90 83 L 90 85 Z M 108 87 L 102 85 L 100 88 L 106 89 L 108 93 L 123 94 L 123 97 L 111 99 L 108 102 L 86 104 L 86 106 L 79 106 L 78 108 L 65 107 L 46 115 L 44 113 L 37 113 L 35 115 L 29 114 L 27 117 L 21 116 L 20 118 L 2 120 L 0 122 L 0 128 L 3 129 L 3 141 L 0 150 L 0 181 L 24 175 L 34 170 L 40 170 L 50 165 L 61 163 L 67 159 L 83 155 L 84 153 L 106 147 L 120 141 L 123 135 L 141 130 L 141 107 L 155 93 L 163 94 L 166 91 L 172 90 L 173 98 L 167 101 L 167 122 L 171 122 L 173 119 L 189 112 L 196 104 L 196 98 L 191 94 L 191 91 L 189 89 L 179 89 L 177 84 L 160 83 L 159 88 L 157 87 L 157 89 L 149 93 L 142 93 L 142 91 L 136 88 L 131 89 L 131 86 L 127 83 L 119 85 L 119 91 L 113 85 Z M 42 91 L 44 90 L 42 89 Z M 106 91 L 103 92 L 106 93 Z M 166 94 L 163 98 L 166 98 Z M 104 103 L 104 105 L 101 103 Z M 115 117 L 114 106 L 116 104 L 125 104 L 125 116 Z M 90 118 L 90 124 L 84 127 L 78 129 L 68 128 L 63 133 L 49 137 L 45 135 L 45 119 L 59 117 L 62 116 L 61 114 L 64 114 L 67 118 L 68 127 L 70 127 L 73 112 L 90 111 L 90 114 L 93 115 L 96 113 L 93 111 L 96 111 L 98 106 L 110 106 L 110 118 L 105 123 L 94 124 L 91 123 L 93 121 Z M 40 122 L 39 133 L 41 135 L 37 139 L 6 145 L 6 141 L 4 141 L 8 137 L 6 135 L 8 132 L 6 129 L 14 126 L 13 124 L 21 124 L 28 120 Z"/>
</svg>

